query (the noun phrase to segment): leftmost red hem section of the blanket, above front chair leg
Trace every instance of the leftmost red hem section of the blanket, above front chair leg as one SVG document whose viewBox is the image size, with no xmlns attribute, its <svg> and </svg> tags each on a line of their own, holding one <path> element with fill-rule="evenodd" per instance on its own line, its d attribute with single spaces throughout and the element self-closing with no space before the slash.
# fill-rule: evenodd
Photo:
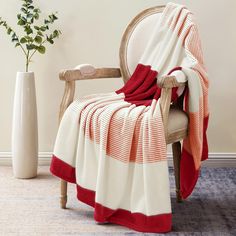
<svg viewBox="0 0 236 236">
<path fill-rule="evenodd" d="M 52 156 L 50 171 L 53 175 L 64 179 L 67 182 L 76 183 L 75 168 L 54 155 Z"/>
</svg>

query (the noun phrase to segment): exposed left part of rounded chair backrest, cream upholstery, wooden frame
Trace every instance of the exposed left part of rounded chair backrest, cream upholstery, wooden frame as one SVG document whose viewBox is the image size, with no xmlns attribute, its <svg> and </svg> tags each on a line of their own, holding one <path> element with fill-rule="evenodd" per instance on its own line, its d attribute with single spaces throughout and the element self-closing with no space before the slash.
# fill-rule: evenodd
<svg viewBox="0 0 236 236">
<path fill-rule="evenodd" d="M 127 26 L 120 45 L 120 69 L 125 83 L 135 70 L 164 8 L 165 6 L 156 6 L 146 9 Z"/>
</svg>

